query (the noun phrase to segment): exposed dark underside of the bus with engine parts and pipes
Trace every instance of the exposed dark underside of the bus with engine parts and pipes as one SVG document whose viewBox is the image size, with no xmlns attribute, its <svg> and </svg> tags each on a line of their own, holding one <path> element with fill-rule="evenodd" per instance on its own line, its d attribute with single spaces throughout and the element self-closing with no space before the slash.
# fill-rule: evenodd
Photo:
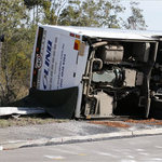
<svg viewBox="0 0 162 162">
<path fill-rule="evenodd" d="M 91 45 L 82 78 L 82 116 L 148 118 L 157 100 L 162 108 L 162 42 L 84 39 Z"/>
</svg>

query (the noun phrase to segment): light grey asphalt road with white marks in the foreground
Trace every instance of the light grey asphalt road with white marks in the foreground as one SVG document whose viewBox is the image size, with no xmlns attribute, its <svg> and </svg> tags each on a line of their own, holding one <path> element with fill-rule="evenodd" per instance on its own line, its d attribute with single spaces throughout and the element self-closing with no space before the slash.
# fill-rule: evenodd
<svg viewBox="0 0 162 162">
<path fill-rule="evenodd" d="M 0 151 L 0 162 L 161 162 L 162 135 Z"/>
</svg>

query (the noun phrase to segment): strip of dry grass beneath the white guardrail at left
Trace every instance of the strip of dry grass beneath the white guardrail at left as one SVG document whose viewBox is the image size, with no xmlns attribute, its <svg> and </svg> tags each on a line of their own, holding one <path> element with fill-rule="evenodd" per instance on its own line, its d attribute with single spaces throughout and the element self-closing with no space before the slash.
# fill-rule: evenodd
<svg viewBox="0 0 162 162">
<path fill-rule="evenodd" d="M 0 129 L 11 127 L 11 126 L 26 126 L 26 125 L 37 125 L 37 124 L 49 124 L 49 123 L 62 123 L 67 122 L 69 120 L 63 119 L 54 119 L 49 117 L 48 114 L 39 114 L 39 116 L 22 116 L 10 117 L 0 119 Z"/>
</svg>

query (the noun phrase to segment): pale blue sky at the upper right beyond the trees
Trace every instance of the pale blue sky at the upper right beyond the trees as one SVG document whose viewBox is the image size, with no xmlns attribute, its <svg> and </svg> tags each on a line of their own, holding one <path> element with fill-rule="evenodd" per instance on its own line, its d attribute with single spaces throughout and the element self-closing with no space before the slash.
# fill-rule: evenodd
<svg viewBox="0 0 162 162">
<path fill-rule="evenodd" d="M 123 19 L 131 14 L 130 10 L 131 0 L 121 0 L 121 4 L 126 8 Z M 161 30 L 162 31 L 162 0 L 133 0 L 139 2 L 138 8 L 144 10 L 143 15 L 146 21 L 147 30 Z"/>
</svg>

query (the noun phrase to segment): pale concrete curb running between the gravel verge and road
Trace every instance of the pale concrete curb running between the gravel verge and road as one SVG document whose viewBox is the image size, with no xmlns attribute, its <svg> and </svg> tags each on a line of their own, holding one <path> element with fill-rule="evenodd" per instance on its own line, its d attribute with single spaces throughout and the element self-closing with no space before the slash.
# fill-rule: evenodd
<svg viewBox="0 0 162 162">
<path fill-rule="evenodd" d="M 95 141 L 95 140 L 104 140 L 110 138 L 119 138 L 119 137 L 134 137 L 134 136 L 160 135 L 160 134 L 162 134 L 162 129 L 105 133 L 105 134 L 95 134 L 89 136 L 70 136 L 70 137 L 60 137 L 60 138 L 52 138 L 52 139 L 43 138 L 37 140 L 17 140 L 17 141 L 9 141 L 9 143 L 0 144 L 0 151 L 25 148 L 25 147 Z"/>
</svg>

